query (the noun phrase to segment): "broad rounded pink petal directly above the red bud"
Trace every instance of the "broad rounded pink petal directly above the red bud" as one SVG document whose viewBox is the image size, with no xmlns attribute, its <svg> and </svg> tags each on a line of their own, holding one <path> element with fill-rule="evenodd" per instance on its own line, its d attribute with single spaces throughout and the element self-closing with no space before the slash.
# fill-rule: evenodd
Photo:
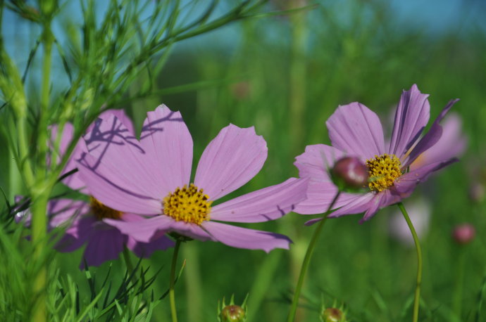
<svg viewBox="0 0 486 322">
<path fill-rule="evenodd" d="M 385 153 L 380 119 L 361 103 L 342 105 L 326 122 L 332 146 L 368 160 Z"/>
</svg>

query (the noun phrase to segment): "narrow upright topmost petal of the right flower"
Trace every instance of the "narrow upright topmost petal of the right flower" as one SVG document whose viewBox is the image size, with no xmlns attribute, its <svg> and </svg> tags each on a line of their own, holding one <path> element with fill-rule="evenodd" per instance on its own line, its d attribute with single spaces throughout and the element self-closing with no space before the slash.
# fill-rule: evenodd
<svg viewBox="0 0 486 322">
<path fill-rule="evenodd" d="M 418 140 L 430 118 L 428 94 L 422 94 L 416 84 L 401 94 L 395 114 L 390 154 L 401 158 Z"/>
</svg>

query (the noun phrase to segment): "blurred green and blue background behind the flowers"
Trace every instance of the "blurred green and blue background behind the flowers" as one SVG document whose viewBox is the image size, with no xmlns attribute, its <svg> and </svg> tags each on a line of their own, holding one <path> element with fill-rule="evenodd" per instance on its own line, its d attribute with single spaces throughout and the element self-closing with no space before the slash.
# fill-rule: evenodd
<svg viewBox="0 0 486 322">
<path fill-rule="evenodd" d="M 306 4 L 304 0 L 270 1 L 264 9 Z M 385 124 L 392 120 L 390 111 L 401 90 L 412 84 L 430 94 L 432 120 L 450 99 L 461 98 L 454 111 L 468 137 L 466 153 L 461 162 L 432 176 L 404 205 L 411 207 L 419 195 L 430 204 L 429 228 L 421 236 L 420 321 L 485 321 L 481 291 L 486 277 L 486 211 L 478 187 L 484 189 L 486 184 L 486 29 L 481 22 L 486 8 L 480 1 L 413 4 L 407 9 L 398 1 L 319 1 L 291 15 L 234 22 L 182 41 L 170 54 L 158 75 L 157 89 L 189 84 L 192 90 L 154 95 L 117 108 L 127 111 L 138 130 L 145 112 L 161 103 L 180 110 L 194 139 L 194 166 L 206 144 L 228 123 L 256 127 L 267 141 L 268 160 L 260 174 L 231 198 L 297 176 L 294 157 L 306 145 L 330 143 L 325 120 L 339 104 L 359 101 Z M 225 5 L 221 4 L 223 9 Z M 22 53 L 35 39 L 28 29 L 19 28 L 22 37 L 12 44 L 13 53 Z M 25 61 L 20 58 L 18 63 Z M 54 80 L 54 92 L 56 86 L 62 88 Z M 35 80 L 30 89 L 35 92 Z M 12 165 L 2 143 L 0 186 L 9 198 L 22 193 Z M 472 188 L 475 198 L 471 198 Z M 359 224 L 359 215 L 328 221 L 314 252 L 303 292 L 305 309 L 299 311 L 298 321 L 318 321 L 322 303 L 344 305 L 351 321 L 411 318 L 416 251 L 390 236 L 390 218 L 397 207 L 390 208 L 364 224 Z M 291 213 L 278 221 L 251 225 L 292 238 L 289 251 L 267 255 L 220 243 L 182 245 L 180 258 L 186 260 L 186 268 L 176 288 L 180 321 L 216 321 L 218 300 L 235 294 L 235 300 L 242 302 L 247 293 L 249 321 L 284 321 L 313 231 L 304 222 L 311 218 Z M 459 246 L 451 231 L 463 222 L 473 224 L 477 234 L 472 243 Z M 77 268 L 81 254 L 60 254 L 56 263 L 61 273 L 79 283 L 80 290 L 87 290 L 85 275 Z M 158 295 L 168 287 L 171 256 L 170 250 L 157 252 L 142 262 L 153 272 L 162 267 L 154 287 Z M 454 295 L 461 288 L 461 261 L 458 316 Z M 108 266 L 93 271 L 104 276 Z M 111 277 L 113 281 L 117 276 Z M 169 312 L 166 299 L 156 307 L 153 321 L 168 321 Z"/>
</svg>

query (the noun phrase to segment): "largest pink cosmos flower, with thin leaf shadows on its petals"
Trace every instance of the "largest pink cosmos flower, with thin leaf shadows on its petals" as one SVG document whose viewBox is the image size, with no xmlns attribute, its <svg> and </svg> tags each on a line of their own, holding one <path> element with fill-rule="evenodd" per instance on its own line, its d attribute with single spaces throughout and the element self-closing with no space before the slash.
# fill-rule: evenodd
<svg viewBox="0 0 486 322">
<path fill-rule="evenodd" d="M 112 147 L 103 154 L 94 150 L 85 155 L 79 162 L 82 179 L 104 205 L 147 217 L 135 222 L 104 219 L 107 224 L 144 243 L 173 232 L 266 252 L 289 247 L 286 236 L 219 221 L 249 223 L 280 218 L 304 200 L 306 179 L 291 178 L 213 205 L 263 167 L 266 142 L 253 127 L 230 124 L 223 128 L 204 150 L 191 181 L 192 138 L 180 112 L 165 105 L 148 112 L 140 141 L 130 135 L 112 135 L 113 129 L 127 134 L 116 117 L 99 125 L 100 134 L 113 137 L 108 142 Z"/>
</svg>

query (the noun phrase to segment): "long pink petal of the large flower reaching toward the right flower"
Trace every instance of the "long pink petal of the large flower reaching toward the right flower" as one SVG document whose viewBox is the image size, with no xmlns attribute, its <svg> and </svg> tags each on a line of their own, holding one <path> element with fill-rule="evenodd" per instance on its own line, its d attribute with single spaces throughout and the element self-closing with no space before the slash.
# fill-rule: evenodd
<svg viewBox="0 0 486 322">
<path fill-rule="evenodd" d="M 211 209 L 211 220 L 261 222 L 280 218 L 306 198 L 308 181 L 291 178 L 223 202 Z"/>
</svg>

